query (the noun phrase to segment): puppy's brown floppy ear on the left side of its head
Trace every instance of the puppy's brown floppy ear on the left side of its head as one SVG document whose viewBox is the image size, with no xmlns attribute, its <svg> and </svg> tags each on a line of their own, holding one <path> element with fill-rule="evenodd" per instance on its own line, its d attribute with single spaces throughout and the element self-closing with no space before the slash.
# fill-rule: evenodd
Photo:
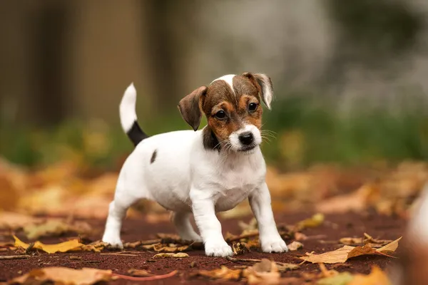
<svg viewBox="0 0 428 285">
<path fill-rule="evenodd" d="M 193 130 L 198 130 L 199 128 L 200 119 L 202 118 L 200 109 L 202 108 L 203 100 L 205 100 L 207 89 L 206 86 L 201 86 L 178 103 L 178 110 L 180 110 L 181 116 Z"/>
</svg>

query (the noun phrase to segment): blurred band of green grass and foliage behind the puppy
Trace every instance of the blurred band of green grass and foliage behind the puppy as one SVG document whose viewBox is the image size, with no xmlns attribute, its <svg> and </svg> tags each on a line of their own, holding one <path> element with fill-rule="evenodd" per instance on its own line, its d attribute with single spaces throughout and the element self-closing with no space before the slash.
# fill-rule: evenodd
<svg viewBox="0 0 428 285">
<path fill-rule="evenodd" d="M 427 98 L 424 94 L 397 95 L 392 107 L 367 96 L 347 102 L 315 93 L 282 96 L 265 110 L 263 152 L 267 161 L 281 167 L 305 167 L 315 162 L 368 164 L 387 160 L 428 158 Z M 163 118 L 139 119 L 154 135 L 190 129 L 171 110 Z M 203 124 L 205 125 L 205 120 Z M 46 165 L 58 160 L 79 160 L 87 165 L 111 167 L 133 150 L 118 123 L 108 125 L 68 121 L 55 128 L 0 125 L 0 154 L 24 165 Z"/>
</svg>

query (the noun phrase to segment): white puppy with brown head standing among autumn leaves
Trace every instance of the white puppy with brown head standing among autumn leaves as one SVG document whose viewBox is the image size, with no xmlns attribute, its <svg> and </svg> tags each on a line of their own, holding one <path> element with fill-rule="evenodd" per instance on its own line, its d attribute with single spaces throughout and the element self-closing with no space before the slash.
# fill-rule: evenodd
<svg viewBox="0 0 428 285">
<path fill-rule="evenodd" d="M 121 125 L 136 146 L 118 177 L 103 242 L 122 248 L 121 224 L 128 207 L 151 199 L 173 212 L 182 239 L 203 241 L 205 254 L 233 254 L 215 213 L 248 198 L 263 252 L 287 252 L 272 214 L 265 182 L 262 142 L 263 101 L 270 109 L 272 82 L 265 74 L 243 73 L 215 79 L 178 103 L 193 130 L 148 137 L 137 123 L 136 89 L 129 86 L 120 105 Z M 202 115 L 208 125 L 198 130 Z M 193 213 L 200 235 L 190 224 Z"/>
</svg>

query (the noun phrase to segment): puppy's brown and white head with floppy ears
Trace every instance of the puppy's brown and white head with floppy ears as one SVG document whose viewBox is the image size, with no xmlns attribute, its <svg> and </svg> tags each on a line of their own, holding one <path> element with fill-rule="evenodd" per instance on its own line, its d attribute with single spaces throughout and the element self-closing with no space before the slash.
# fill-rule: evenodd
<svg viewBox="0 0 428 285">
<path fill-rule="evenodd" d="M 201 86 L 180 100 L 178 109 L 193 130 L 198 130 L 202 113 L 205 114 L 205 147 L 250 152 L 262 142 L 261 101 L 270 109 L 272 97 L 268 76 L 243 73 L 223 76 L 209 86 Z"/>
</svg>

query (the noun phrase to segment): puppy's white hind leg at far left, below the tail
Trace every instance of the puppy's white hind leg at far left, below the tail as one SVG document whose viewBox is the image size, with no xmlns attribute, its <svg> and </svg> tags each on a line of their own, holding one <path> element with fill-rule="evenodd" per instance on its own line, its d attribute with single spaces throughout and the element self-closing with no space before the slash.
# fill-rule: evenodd
<svg viewBox="0 0 428 285">
<path fill-rule="evenodd" d="M 103 242 L 107 242 L 112 247 L 123 248 L 121 241 L 121 227 L 123 218 L 126 215 L 126 211 L 131 204 L 136 202 L 138 199 L 134 197 L 121 197 L 121 195 L 115 195 L 115 199 L 110 203 L 108 207 L 108 217 L 106 222 L 106 229 L 103 234 Z"/>
</svg>

